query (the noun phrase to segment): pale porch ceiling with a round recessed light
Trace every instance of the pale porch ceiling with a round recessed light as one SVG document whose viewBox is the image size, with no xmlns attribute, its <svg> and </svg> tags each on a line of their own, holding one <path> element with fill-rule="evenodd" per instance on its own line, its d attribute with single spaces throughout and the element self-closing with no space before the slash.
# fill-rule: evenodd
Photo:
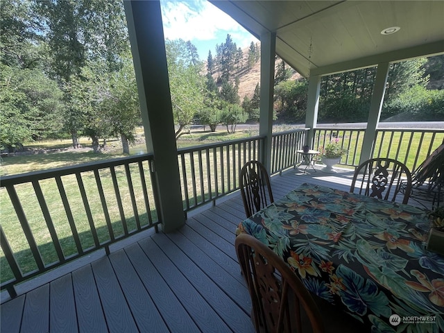
<svg viewBox="0 0 444 333">
<path fill-rule="evenodd" d="M 444 53 L 444 1 L 210 2 L 258 39 L 276 33 L 276 53 L 305 77 Z"/>
</svg>

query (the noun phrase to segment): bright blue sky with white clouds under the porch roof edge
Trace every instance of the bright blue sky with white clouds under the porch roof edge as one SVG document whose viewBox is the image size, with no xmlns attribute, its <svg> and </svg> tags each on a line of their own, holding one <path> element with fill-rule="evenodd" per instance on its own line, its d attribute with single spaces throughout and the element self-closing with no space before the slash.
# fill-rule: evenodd
<svg viewBox="0 0 444 333">
<path fill-rule="evenodd" d="M 200 60 L 207 60 L 208 51 L 216 55 L 216 44 L 225 42 L 227 34 L 237 47 L 244 49 L 258 42 L 225 12 L 206 0 L 161 0 L 164 37 L 190 40 L 198 49 Z"/>
</svg>

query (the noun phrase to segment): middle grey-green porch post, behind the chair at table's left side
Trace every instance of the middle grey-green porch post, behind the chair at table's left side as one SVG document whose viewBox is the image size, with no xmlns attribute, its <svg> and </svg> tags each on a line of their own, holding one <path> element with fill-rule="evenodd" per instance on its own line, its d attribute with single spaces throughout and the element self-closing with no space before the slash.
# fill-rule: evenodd
<svg viewBox="0 0 444 333">
<path fill-rule="evenodd" d="M 271 135 L 273 133 L 273 94 L 275 82 L 276 34 L 266 33 L 261 36 L 261 94 L 259 135 L 266 135 L 262 147 L 262 162 L 271 170 Z"/>
</svg>

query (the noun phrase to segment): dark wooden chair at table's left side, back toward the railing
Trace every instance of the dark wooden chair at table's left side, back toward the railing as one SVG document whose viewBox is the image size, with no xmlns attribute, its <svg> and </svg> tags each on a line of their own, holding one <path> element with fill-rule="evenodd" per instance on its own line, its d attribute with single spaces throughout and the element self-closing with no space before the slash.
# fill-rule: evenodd
<svg viewBox="0 0 444 333">
<path fill-rule="evenodd" d="M 250 161 L 242 167 L 239 185 L 246 217 L 274 202 L 268 172 L 260 162 Z"/>
</svg>

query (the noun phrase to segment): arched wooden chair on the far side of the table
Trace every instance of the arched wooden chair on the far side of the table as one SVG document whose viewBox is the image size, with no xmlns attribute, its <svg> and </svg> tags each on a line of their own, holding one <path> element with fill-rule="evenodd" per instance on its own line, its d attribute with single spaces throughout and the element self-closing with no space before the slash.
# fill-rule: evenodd
<svg viewBox="0 0 444 333">
<path fill-rule="evenodd" d="M 400 187 L 403 187 L 400 193 Z M 402 203 L 409 201 L 411 173 L 402 162 L 391 158 L 372 158 L 361 163 L 355 170 L 351 193 L 395 201 L 396 196 L 404 196 Z"/>
</svg>

